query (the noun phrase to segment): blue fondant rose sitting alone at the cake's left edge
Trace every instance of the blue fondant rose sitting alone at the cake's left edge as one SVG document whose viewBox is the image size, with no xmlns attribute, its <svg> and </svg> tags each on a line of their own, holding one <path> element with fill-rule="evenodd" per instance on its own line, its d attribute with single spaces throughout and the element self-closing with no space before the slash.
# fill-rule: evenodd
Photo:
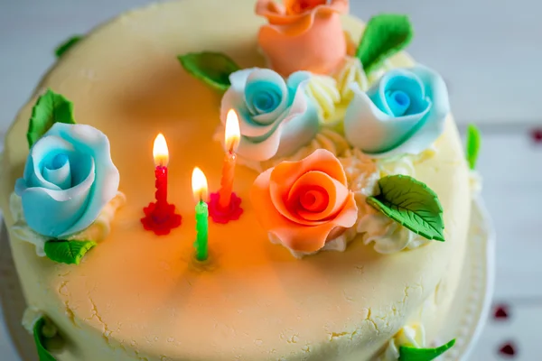
<svg viewBox="0 0 542 361">
<path fill-rule="evenodd" d="M 118 181 L 105 134 L 89 125 L 55 123 L 34 143 L 15 193 L 29 227 L 61 238 L 89 227 L 117 194 Z"/>
</svg>

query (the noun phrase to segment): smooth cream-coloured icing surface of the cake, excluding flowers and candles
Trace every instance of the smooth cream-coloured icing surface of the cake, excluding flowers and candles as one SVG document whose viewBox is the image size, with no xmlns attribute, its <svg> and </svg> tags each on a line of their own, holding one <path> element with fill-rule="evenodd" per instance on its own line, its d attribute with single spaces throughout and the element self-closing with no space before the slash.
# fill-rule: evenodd
<svg viewBox="0 0 542 361">
<path fill-rule="evenodd" d="M 263 65 L 256 51 L 261 20 L 251 3 L 212 3 L 212 14 L 192 23 L 207 3 L 153 5 L 122 15 L 80 42 L 42 81 L 42 88 L 76 104 L 79 123 L 111 139 L 120 188 L 129 201 L 111 235 L 78 267 L 39 258 L 33 245 L 12 234 L 27 301 L 68 339 L 58 357 L 62 361 L 369 359 L 416 319 L 437 286 L 446 284 L 437 309 L 442 314 L 457 287 L 470 193 L 453 120 L 435 145 L 435 157 L 416 164 L 416 178 L 435 190 L 444 206 L 444 244 L 385 256 L 353 241 L 344 254 L 323 253 L 299 263 L 268 243 L 247 207 L 234 226 L 210 227 L 211 235 L 220 235 L 211 237 L 210 245 L 216 268 L 201 273 L 190 266 L 195 226 L 188 216 L 193 212 L 188 183 L 193 164 L 204 167 L 210 179 L 220 179 L 222 151 L 210 142 L 220 123 L 220 97 L 183 73 L 175 57 L 212 49 L 247 67 Z M 343 21 L 358 39 L 360 23 L 350 17 Z M 411 64 L 403 54 L 391 62 Z M 22 140 L 34 102 L 7 135 L 1 204 L 8 227 L 13 224 L 8 198 L 23 172 L 28 150 Z M 182 228 L 159 240 L 138 224 L 153 184 L 152 171 L 142 171 L 139 163 L 149 159 L 151 164 L 150 144 L 158 130 L 172 137 L 171 197 L 185 215 Z M 248 169 L 238 174 L 238 193 L 248 199 L 257 174 Z M 251 237 L 239 237 L 246 229 Z M 235 251 L 232 243 L 239 245 Z M 429 335 L 435 335 L 442 318 L 425 313 L 423 319 Z"/>
</svg>

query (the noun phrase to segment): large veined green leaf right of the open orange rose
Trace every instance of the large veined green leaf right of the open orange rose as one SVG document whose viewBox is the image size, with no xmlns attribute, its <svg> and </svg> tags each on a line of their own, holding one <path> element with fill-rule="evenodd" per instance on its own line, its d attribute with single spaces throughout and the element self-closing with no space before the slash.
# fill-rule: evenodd
<svg viewBox="0 0 542 361">
<path fill-rule="evenodd" d="M 443 208 L 435 192 L 406 175 L 378 180 L 380 194 L 367 203 L 414 233 L 444 242 Z"/>
</svg>

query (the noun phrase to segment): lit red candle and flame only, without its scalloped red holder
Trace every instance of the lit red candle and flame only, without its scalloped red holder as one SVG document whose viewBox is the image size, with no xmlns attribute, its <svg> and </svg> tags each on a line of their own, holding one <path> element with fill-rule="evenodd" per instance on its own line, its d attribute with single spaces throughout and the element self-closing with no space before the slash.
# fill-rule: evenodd
<svg viewBox="0 0 542 361">
<path fill-rule="evenodd" d="M 153 156 L 154 165 L 156 166 L 154 170 L 154 177 L 156 178 L 154 183 L 156 187 L 154 215 L 157 218 L 167 218 L 167 164 L 169 163 L 169 152 L 162 133 L 158 134 L 154 139 Z"/>
</svg>

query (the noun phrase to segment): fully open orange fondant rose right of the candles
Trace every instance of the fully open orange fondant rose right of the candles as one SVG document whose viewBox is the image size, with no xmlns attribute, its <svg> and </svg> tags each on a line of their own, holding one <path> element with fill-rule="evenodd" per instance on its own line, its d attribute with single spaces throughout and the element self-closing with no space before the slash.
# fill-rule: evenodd
<svg viewBox="0 0 542 361">
<path fill-rule="evenodd" d="M 358 218 L 341 162 L 324 149 L 261 173 L 251 199 L 262 227 L 294 252 L 313 253 Z"/>
</svg>

